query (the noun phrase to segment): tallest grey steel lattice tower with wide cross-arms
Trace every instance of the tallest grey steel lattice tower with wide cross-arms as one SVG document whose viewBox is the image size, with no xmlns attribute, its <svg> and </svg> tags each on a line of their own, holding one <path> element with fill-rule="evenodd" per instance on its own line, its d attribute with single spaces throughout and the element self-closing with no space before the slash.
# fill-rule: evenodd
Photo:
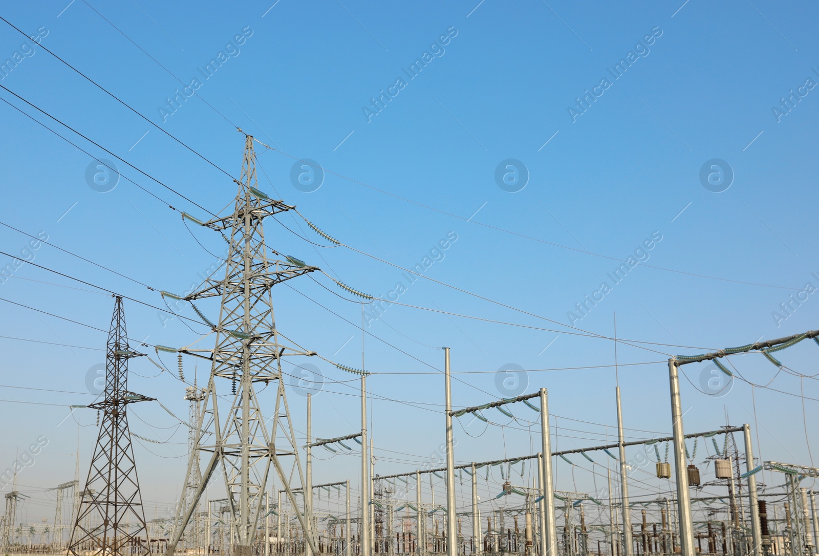
<svg viewBox="0 0 819 556">
<path fill-rule="evenodd" d="M 210 379 L 197 427 L 196 450 L 204 453 L 205 467 L 197 468 L 198 458 L 191 458 L 184 482 L 185 492 L 179 498 L 174 535 L 168 543 L 168 554 L 183 536 L 191 522 L 202 492 L 219 468 L 224 473 L 224 487 L 232 517 L 233 553 L 250 556 L 260 510 L 264 507 L 265 486 L 271 465 L 275 469 L 294 508 L 300 507 L 293 495 L 290 477 L 283 468 L 283 458 L 292 458 L 297 469 L 297 484 L 304 485 L 304 475 L 296 447 L 296 436 L 284 393 L 281 359 L 294 355 L 314 355 L 292 349 L 281 343 L 276 329 L 271 288 L 290 278 L 316 270 L 301 261 L 283 257 L 265 245 L 262 221 L 267 216 L 291 210 L 283 201 L 269 199 L 256 187 L 256 155 L 253 138 L 247 135 L 242 179 L 231 215 L 200 223 L 219 233 L 229 234 L 229 251 L 224 279 L 208 278 L 197 292 L 185 297 L 194 301 L 220 296 L 219 321 L 209 323 L 215 334 L 213 350 L 183 349 L 183 353 L 206 356 L 212 360 Z M 198 312 L 198 310 L 197 310 Z M 275 403 L 269 418 L 262 413 L 256 397 L 256 386 L 272 385 Z M 217 391 L 225 396 L 231 388 L 232 403 L 227 413 L 219 415 Z M 224 389 L 224 390 L 223 390 Z M 197 481 L 198 486 L 188 488 Z M 292 475 L 292 474 L 291 474 Z M 314 547 L 309 511 L 296 511 L 305 540 Z"/>
</svg>

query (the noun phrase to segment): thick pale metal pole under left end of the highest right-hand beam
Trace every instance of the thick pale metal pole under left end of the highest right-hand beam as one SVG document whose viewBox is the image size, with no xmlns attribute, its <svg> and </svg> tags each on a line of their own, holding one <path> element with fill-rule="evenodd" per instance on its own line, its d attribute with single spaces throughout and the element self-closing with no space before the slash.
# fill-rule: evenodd
<svg viewBox="0 0 819 556">
<path fill-rule="evenodd" d="M 674 434 L 674 476 L 676 478 L 677 518 L 680 522 L 681 556 L 695 556 L 694 523 L 691 518 L 691 495 L 688 490 L 686 445 L 682 430 L 682 405 L 680 401 L 680 377 L 677 362 L 668 359 L 668 379 L 671 386 L 671 417 Z"/>
</svg>

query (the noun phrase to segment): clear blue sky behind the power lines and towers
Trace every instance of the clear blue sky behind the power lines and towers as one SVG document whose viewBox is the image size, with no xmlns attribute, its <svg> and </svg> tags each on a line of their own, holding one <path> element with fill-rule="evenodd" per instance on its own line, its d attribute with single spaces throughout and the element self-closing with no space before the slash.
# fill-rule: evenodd
<svg viewBox="0 0 819 556">
<path fill-rule="evenodd" d="M 235 128 L 241 127 L 273 147 L 265 151 L 257 145 L 264 170 L 260 189 L 297 205 L 333 237 L 411 267 L 450 234 L 457 239 L 426 270 L 429 278 L 559 323 L 428 280 L 412 284 L 400 296 L 407 305 L 555 332 L 389 307 L 368 328 L 380 340 L 364 342 L 365 367 L 374 373 L 369 386 L 372 433 L 382 450 L 376 453 L 378 472 L 412 470 L 443 440 L 443 378 L 433 369 L 442 368 L 442 354 L 434 346 L 450 346 L 453 370 L 464 373 L 454 383 L 457 406 L 502 396 L 496 386 L 502 366 L 530 369 L 526 391 L 549 388 L 557 426 L 588 432 L 555 430 L 559 447 L 566 448 L 605 443 L 616 423 L 613 341 L 572 336 L 569 332 L 577 331 L 570 323 L 610 337 L 616 313 L 618 337 L 658 343 L 644 345 L 649 349 L 618 347 L 620 364 L 640 363 L 619 369 L 626 425 L 644 431 L 631 437 L 670 430 L 668 355 L 816 328 L 819 301 L 809 294 L 801 305 L 791 305 L 790 314 L 781 313 L 783 318 L 772 315 L 806 283 L 819 287 L 812 275 L 819 265 L 811 241 L 819 89 L 799 89 L 808 79 L 819 83 L 817 38 L 810 25 L 817 14 L 811 3 L 797 2 L 790 10 L 766 0 L 270 3 L 210 4 L 194 11 L 147 1 L 106 6 L 79 0 L 66 7 L 66 0 L 4 8 L 4 18 L 29 35 L 39 32 L 43 47 L 150 124 L 42 47 L 33 53 L 26 47 L 22 61 L 0 74 L 0 84 L 213 211 L 235 195 L 231 179 L 215 166 L 238 177 L 243 136 Z M 25 39 L 5 23 L 0 29 L 2 61 L 20 52 Z M 242 33 L 241 45 L 231 43 Z M 445 34 L 448 40 L 441 40 Z M 205 79 L 200 69 L 219 52 L 226 52 L 227 60 Z M 409 79 L 405 69 L 423 60 L 425 52 L 427 66 Z M 609 69 L 628 60 L 630 52 L 635 52 L 633 63 L 614 79 Z M 172 114 L 163 114 L 166 100 L 182 89 L 177 78 L 189 84 L 194 77 L 201 79 L 201 98 L 179 102 Z M 395 97 L 382 101 L 373 115 L 371 99 L 399 78 L 404 86 L 392 89 Z M 604 78 L 609 87 L 597 89 L 602 94 L 586 100 L 581 115 L 572 115 L 576 99 Z M 798 91 L 803 96 L 794 97 L 783 115 L 781 99 Z M 115 160 L 8 91 L 0 91 L 0 97 L 93 156 Z M 179 210 L 206 217 L 191 202 L 120 160 L 115 160 L 119 183 L 97 192 L 86 179 L 92 156 L 5 103 L 0 113 L 3 223 L 42 233 L 49 243 L 170 292 L 187 291 L 224 250 L 215 234 L 185 228 Z M 301 191 L 291 180 L 292 166 L 303 158 L 326 170 L 313 192 Z M 520 165 L 509 171 L 528 174 L 517 192 L 495 179 L 500 163 L 509 159 Z M 705 163 L 714 159 L 717 168 L 708 164 L 706 174 L 733 174 L 722 192 L 709 191 L 700 179 Z M 500 174 L 505 173 L 502 168 Z M 280 221 L 310 242 L 326 244 L 297 216 L 282 215 Z M 269 245 L 363 292 L 386 296 L 401 279 L 399 269 L 345 247 L 314 247 L 287 228 L 269 221 Z M 13 256 L 34 257 L 36 264 L 162 304 L 156 292 L 52 246 L 38 244 L 21 253 L 28 242 L 2 227 L 0 245 L 7 253 L 2 264 Z M 645 251 L 635 253 L 640 248 Z M 609 273 L 632 255 L 640 264 L 614 283 Z M 599 296 L 594 292 L 604 282 L 610 292 L 588 314 L 577 315 L 576 304 L 586 295 Z M 326 279 L 323 283 L 335 288 Z M 320 306 L 359 323 L 360 305 L 306 278 L 290 284 L 304 296 L 286 286 L 274 290 L 282 332 L 329 359 L 360 368 L 360 330 Z M 93 287 L 24 264 L 2 283 L 0 297 L 106 329 L 111 297 L 88 290 Z M 84 476 L 95 415 L 78 410 L 61 420 L 66 405 L 93 397 L 86 394 L 86 377 L 102 363 L 102 352 L 54 344 L 101 349 L 105 334 L 3 305 L 0 398 L 58 406 L 0 403 L 2 418 L 10 423 L 0 445 L 0 467 L 13 463 L 18 446 L 23 450 L 44 435 L 48 445 L 20 473 L 20 484 L 40 489 L 68 481 L 79 430 Z M 166 346 L 196 339 L 180 319 L 164 323 L 156 310 L 133 301 L 125 308 L 132 337 Z M 216 314 L 215 306 L 203 308 Z M 582 319 L 572 319 L 571 311 Z M 196 316 L 189 309 L 184 314 Z M 688 380 L 681 386 L 683 405 L 691 408 L 686 432 L 720 427 L 726 416 L 732 425 L 754 423 L 755 402 L 760 427 L 754 441 L 762 457 L 810 463 L 803 423 L 817 418 L 817 405 L 799 395 L 817 398 L 819 391 L 815 379 L 800 381 L 798 373 L 815 374 L 817 349 L 805 341 L 780 352 L 792 373 L 777 374 L 761 355 L 731 358 L 750 382 L 766 385 L 772 379 L 769 388 L 753 389 L 753 400 L 752 387 L 739 379 L 723 396 L 698 391 L 708 385 L 710 370 L 687 365 Z M 356 382 L 336 382 L 354 377 L 321 361 L 310 363 L 326 382 L 314 398 L 315 434 L 354 432 Z M 175 361 L 165 356 L 164 364 L 173 370 Z M 186 361 L 187 377 L 194 364 Z M 533 370 L 554 368 L 565 370 Z M 167 373 L 153 376 L 159 369 L 144 358 L 133 361 L 131 369 L 132 390 L 187 414 L 179 381 Z M 207 371 L 197 368 L 200 382 Z M 294 392 L 291 398 L 296 428 L 303 431 L 304 397 Z M 526 412 L 531 410 L 515 409 L 531 418 Z M 179 443 L 136 445 L 143 497 L 156 507 L 170 504 L 183 481 L 186 429 L 156 404 L 134 407 L 132 414 L 133 432 Z M 536 429 L 530 434 L 520 425 L 489 427 L 477 439 L 469 436 L 482 429 L 473 433 L 473 427 L 464 423 L 456 432 L 459 461 L 536 451 Z M 317 463 L 316 481 L 358 477 L 358 464 L 355 456 Z M 571 469 L 561 465 L 559 483 L 571 481 Z M 583 485 L 578 488 L 594 490 L 594 480 L 588 471 L 577 472 Z M 781 477 L 766 481 L 778 484 Z M 648 481 L 641 488 L 656 492 L 667 486 Z M 32 502 L 26 511 L 34 519 L 52 510 L 45 502 Z"/>
</svg>

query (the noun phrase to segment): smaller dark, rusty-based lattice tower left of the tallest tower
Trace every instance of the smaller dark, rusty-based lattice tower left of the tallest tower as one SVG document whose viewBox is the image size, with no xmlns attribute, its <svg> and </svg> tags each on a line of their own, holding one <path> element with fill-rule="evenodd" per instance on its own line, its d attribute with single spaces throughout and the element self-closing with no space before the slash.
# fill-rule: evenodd
<svg viewBox="0 0 819 556">
<path fill-rule="evenodd" d="M 153 400 L 128 391 L 128 359 L 144 355 L 128 346 L 122 298 L 116 297 L 106 350 L 105 398 L 88 405 L 102 410 L 97 445 L 68 544 L 69 554 L 138 556 L 148 554 L 145 512 L 126 408 Z M 136 529 L 129 531 L 130 527 Z"/>
</svg>

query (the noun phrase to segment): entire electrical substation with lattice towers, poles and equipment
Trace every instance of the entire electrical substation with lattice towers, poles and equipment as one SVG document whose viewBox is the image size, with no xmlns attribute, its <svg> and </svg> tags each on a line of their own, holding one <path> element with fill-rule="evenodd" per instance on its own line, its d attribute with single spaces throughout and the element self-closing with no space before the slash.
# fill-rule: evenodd
<svg viewBox="0 0 819 556">
<path fill-rule="evenodd" d="M 312 396 L 308 395 L 306 437 L 300 438 L 290 413 L 292 400 L 288 404 L 282 361 L 289 356 L 322 356 L 292 345 L 278 331 L 271 290 L 291 278 L 322 271 L 279 254 L 266 242 L 265 219 L 296 207 L 272 200 L 260 190 L 254 143 L 247 135 L 232 213 L 209 220 L 182 214 L 228 242 L 224 270 L 212 273 L 188 295 L 161 292 L 166 300 L 189 303 L 211 332 L 189 346 L 150 346 L 156 355 L 152 358 L 147 345 L 129 345 L 125 301 L 115 296 L 104 393 L 102 400 L 87 406 L 97 411 L 99 427 L 88 474 L 79 469 L 78 458 L 75 480 L 49 489 L 57 500 L 52 522 L 20 522 L 18 508 L 27 495 L 12 487 L 5 495 L 2 518 L 5 553 L 809 556 L 817 552 L 816 494 L 805 485 L 819 477 L 819 469 L 755 459 L 749 424 L 684 432 L 677 372 L 681 365 L 713 361 L 730 376 L 721 360 L 748 352 L 761 352 L 772 364 L 781 365 L 774 352 L 799 341 L 817 341 L 817 331 L 669 359 L 672 434 L 668 436 L 626 441 L 624 433 L 634 436 L 634 431 L 623 426 L 618 387 L 614 392 L 617 442 L 553 450 L 550 427 L 543 426 L 550 422 L 545 388 L 453 409 L 450 350 L 443 348 L 446 410 L 441 419 L 445 442 L 440 465 L 428 463 L 397 474 L 379 472 L 367 432 L 369 373 L 330 359 L 326 360 L 339 370 L 359 377 L 361 428 L 334 438 L 314 436 L 317 427 L 311 422 Z M 325 242 L 338 243 L 316 224 L 306 219 L 305 224 Z M 373 299 L 333 281 L 344 292 L 364 301 Z M 208 297 L 220 301 L 219 317 L 212 320 L 195 305 Z M 187 472 L 174 514 L 149 519 L 127 414 L 131 404 L 154 400 L 127 389 L 128 361 L 146 356 L 170 372 L 157 362 L 161 353 L 179 359 L 183 382 L 186 358 L 209 361 L 210 376 L 205 386 L 194 380 L 185 387 L 188 418 L 174 415 L 188 428 Z M 260 402 L 260 387 L 276 392 L 273 404 Z M 456 463 L 453 422 L 477 419 L 491 426 L 498 416 L 536 423 L 536 451 Z M 314 450 L 332 454 L 358 450 L 363 472 L 360 477 L 314 484 Z M 568 484 L 558 484 L 556 464 L 571 466 L 572 472 L 574 468 L 578 473 L 593 472 L 604 487 L 577 492 Z M 757 478 L 762 472 L 779 485 L 775 490 L 760 489 Z M 633 492 L 635 485 L 649 482 L 669 486 L 672 494 L 654 499 L 629 496 L 630 483 Z M 223 486 L 225 495 L 210 499 L 206 493 L 212 484 Z"/>
</svg>

